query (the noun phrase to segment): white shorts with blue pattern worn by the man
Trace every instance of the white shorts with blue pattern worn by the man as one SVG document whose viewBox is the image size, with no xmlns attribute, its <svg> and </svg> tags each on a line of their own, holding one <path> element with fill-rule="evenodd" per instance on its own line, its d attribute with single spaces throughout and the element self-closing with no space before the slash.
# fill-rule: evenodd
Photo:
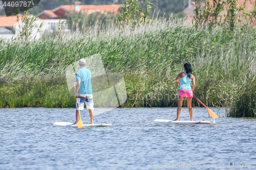
<svg viewBox="0 0 256 170">
<path fill-rule="evenodd" d="M 84 103 L 86 103 L 86 108 L 87 110 L 94 110 L 94 107 L 93 107 L 93 94 L 82 94 L 82 96 L 80 96 L 80 94 L 78 94 L 78 98 L 77 98 L 77 101 L 78 101 L 78 108 L 79 110 L 83 110 L 84 108 Z M 76 110 L 77 109 L 77 104 L 76 104 Z"/>
</svg>

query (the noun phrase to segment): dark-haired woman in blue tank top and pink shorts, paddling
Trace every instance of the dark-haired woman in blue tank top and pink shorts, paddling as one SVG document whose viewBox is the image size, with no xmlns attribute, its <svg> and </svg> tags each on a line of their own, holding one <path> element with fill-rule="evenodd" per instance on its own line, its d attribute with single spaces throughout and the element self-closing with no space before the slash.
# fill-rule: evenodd
<svg viewBox="0 0 256 170">
<path fill-rule="evenodd" d="M 173 121 L 179 121 L 180 111 L 183 104 L 183 100 L 187 98 L 187 107 L 189 111 L 190 120 L 193 121 L 193 109 L 192 109 L 192 98 L 193 98 L 193 91 L 196 87 L 195 76 L 192 74 L 192 68 L 190 63 L 185 63 L 183 65 L 184 72 L 181 72 L 175 81 L 179 81 L 180 79 L 180 89 L 178 93 L 178 108 L 177 108 L 177 118 Z M 191 82 L 193 86 L 191 88 Z"/>
</svg>

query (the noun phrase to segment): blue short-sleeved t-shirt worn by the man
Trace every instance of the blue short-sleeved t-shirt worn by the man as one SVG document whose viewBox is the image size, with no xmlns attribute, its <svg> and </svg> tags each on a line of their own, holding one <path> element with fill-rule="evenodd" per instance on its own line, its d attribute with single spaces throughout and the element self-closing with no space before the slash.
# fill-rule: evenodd
<svg viewBox="0 0 256 170">
<path fill-rule="evenodd" d="M 87 68 L 81 68 L 76 73 L 76 81 L 80 80 L 80 88 L 78 90 L 78 94 L 92 94 L 92 72 L 90 69 Z"/>
</svg>

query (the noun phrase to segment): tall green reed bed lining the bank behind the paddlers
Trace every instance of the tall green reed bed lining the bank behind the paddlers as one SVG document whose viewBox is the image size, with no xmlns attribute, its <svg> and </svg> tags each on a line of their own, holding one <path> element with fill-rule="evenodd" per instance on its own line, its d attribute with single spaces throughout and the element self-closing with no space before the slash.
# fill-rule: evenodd
<svg viewBox="0 0 256 170">
<path fill-rule="evenodd" d="M 177 106 L 174 79 L 190 62 L 197 84 L 194 94 L 202 102 L 230 108 L 227 116 L 255 116 L 254 28 L 196 29 L 173 18 L 133 27 L 109 25 L 103 31 L 101 27 L 28 43 L 0 40 L 0 106 L 74 107 L 63 78 L 65 68 L 100 54 L 107 71 L 124 76 L 127 101 L 122 107 Z M 34 93 L 24 92 L 28 89 L 23 84 L 29 81 L 33 82 L 29 91 Z M 15 103 L 15 98 L 27 100 Z M 37 99 L 41 101 L 29 103 Z"/>
</svg>

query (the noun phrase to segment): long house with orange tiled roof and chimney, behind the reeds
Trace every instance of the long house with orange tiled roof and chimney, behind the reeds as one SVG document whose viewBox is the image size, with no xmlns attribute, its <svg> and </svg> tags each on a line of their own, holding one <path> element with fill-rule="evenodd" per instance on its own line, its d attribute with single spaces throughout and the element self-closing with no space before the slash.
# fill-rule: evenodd
<svg viewBox="0 0 256 170">
<path fill-rule="evenodd" d="M 56 19 L 62 18 L 66 19 L 67 12 L 82 12 L 82 13 L 94 13 L 94 12 L 114 12 L 118 13 L 118 9 L 121 5 L 112 4 L 112 5 L 81 5 L 81 2 L 75 2 L 74 5 L 61 5 L 53 10 L 44 10 L 38 14 L 40 19 Z"/>
</svg>

